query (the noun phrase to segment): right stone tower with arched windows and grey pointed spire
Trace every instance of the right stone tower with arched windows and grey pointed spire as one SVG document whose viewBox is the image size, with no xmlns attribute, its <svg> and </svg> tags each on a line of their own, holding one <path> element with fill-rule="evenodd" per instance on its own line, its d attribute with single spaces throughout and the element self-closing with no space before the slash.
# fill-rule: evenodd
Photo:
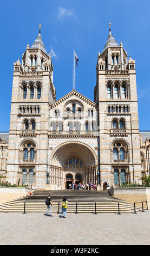
<svg viewBox="0 0 150 256">
<path fill-rule="evenodd" d="M 109 23 L 97 57 L 94 101 L 99 106 L 100 181 L 139 183 L 141 178 L 135 60 L 116 42 Z"/>
</svg>

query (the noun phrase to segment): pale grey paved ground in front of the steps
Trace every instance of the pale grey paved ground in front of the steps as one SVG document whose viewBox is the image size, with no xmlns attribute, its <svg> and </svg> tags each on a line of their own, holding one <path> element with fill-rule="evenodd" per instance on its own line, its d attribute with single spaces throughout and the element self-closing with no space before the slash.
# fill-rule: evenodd
<svg viewBox="0 0 150 256">
<path fill-rule="evenodd" d="M 0 214 L 0 245 L 150 245 L 150 210 L 134 214 Z"/>
</svg>

